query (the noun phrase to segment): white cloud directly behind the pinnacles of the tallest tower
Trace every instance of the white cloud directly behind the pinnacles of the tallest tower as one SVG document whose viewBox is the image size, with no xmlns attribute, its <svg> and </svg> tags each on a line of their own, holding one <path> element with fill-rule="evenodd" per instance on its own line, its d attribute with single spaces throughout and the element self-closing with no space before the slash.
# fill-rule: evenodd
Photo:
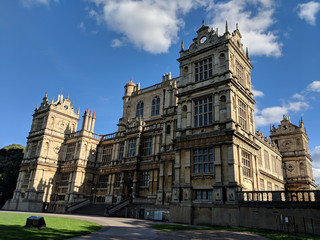
<svg viewBox="0 0 320 240">
<path fill-rule="evenodd" d="M 270 27 L 276 22 L 273 18 L 273 0 L 229 0 L 212 2 L 207 9 L 213 26 L 224 30 L 225 22 L 231 26 L 239 23 L 242 41 L 252 55 L 281 56 L 282 43 Z"/>
</svg>

